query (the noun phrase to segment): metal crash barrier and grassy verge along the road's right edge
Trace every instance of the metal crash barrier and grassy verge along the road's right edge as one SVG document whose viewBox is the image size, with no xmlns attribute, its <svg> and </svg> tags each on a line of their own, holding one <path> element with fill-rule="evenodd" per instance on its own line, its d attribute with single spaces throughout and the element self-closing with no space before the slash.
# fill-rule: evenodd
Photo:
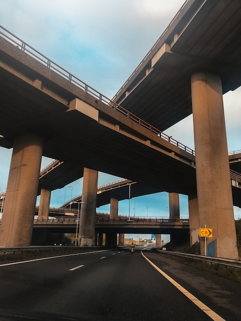
<svg viewBox="0 0 241 321">
<path fill-rule="evenodd" d="M 236 280 L 241 283 L 241 260 L 195 255 L 181 252 L 155 250 L 179 262 L 192 265 L 196 268 Z"/>
</svg>

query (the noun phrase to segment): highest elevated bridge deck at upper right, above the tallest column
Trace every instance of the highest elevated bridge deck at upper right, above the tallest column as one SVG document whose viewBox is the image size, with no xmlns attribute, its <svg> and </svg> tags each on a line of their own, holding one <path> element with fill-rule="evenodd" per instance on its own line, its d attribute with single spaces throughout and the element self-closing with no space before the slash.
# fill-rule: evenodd
<svg viewBox="0 0 241 321">
<path fill-rule="evenodd" d="M 241 85 L 239 0 L 189 0 L 112 98 L 164 131 L 192 113 L 190 75 L 222 77 L 223 93 Z"/>
</svg>

